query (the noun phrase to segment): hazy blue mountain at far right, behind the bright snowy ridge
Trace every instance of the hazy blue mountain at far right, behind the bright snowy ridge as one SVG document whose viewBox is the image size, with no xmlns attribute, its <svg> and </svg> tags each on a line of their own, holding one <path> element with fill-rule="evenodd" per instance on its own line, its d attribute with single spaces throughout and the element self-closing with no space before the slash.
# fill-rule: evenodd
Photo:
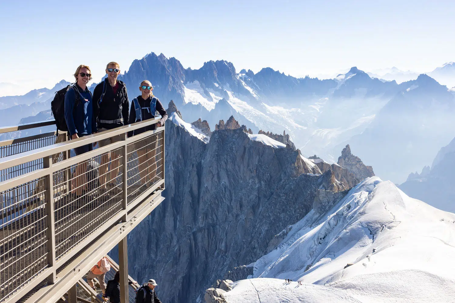
<svg viewBox="0 0 455 303">
<path fill-rule="evenodd" d="M 376 175 L 397 183 L 431 162 L 455 136 L 454 95 L 444 85 L 422 74 L 399 90 L 362 134 L 346 141 Z"/>
</svg>

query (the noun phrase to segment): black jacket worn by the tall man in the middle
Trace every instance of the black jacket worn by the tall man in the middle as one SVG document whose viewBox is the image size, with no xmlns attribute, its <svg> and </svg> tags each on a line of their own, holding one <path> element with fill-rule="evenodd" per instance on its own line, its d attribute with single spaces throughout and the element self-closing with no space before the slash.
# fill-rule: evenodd
<svg viewBox="0 0 455 303">
<path fill-rule="evenodd" d="M 128 93 L 126 92 L 126 85 L 121 80 L 117 80 L 119 87 L 117 93 L 114 95 L 109 81 L 104 79 L 93 90 L 93 114 L 97 118 L 97 129 L 92 130 L 93 132 L 98 131 L 100 128 L 114 129 L 128 124 L 130 119 L 130 103 L 128 100 Z M 103 99 L 100 100 L 101 94 L 103 93 L 103 86 L 106 93 Z M 101 102 L 100 102 L 101 101 Z M 100 123 L 99 120 L 117 120 L 123 118 L 123 122 L 119 123 Z"/>
</svg>

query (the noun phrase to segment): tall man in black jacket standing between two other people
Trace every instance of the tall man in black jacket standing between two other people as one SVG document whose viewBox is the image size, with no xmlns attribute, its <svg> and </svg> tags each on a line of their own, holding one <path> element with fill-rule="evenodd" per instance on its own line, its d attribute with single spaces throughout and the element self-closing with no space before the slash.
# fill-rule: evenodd
<svg viewBox="0 0 455 303">
<path fill-rule="evenodd" d="M 126 85 L 117 79 L 118 75 L 120 75 L 120 66 L 118 63 L 109 62 L 106 65 L 106 74 L 106 79 L 96 85 L 95 90 L 93 91 L 93 112 L 98 121 L 97 129 L 95 129 L 95 131 L 105 131 L 123 126 L 128 123 L 130 117 Z M 118 141 L 121 141 L 120 135 L 101 140 L 98 144 L 100 147 L 103 147 Z M 106 192 L 107 183 L 109 183 L 111 188 L 116 188 L 116 178 L 120 170 L 119 156 L 120 152 L 107 153 L 101 156 L 99 180 L 102 192 Z M 108 163 L 110 161 L 111 170 L 109 175 L 107 171 Z"/>
</svg>

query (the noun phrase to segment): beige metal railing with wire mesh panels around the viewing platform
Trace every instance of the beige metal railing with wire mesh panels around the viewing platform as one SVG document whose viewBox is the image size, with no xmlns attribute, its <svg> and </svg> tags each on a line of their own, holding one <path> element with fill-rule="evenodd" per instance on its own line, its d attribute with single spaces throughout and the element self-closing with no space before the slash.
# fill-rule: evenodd
<svg viewBox="0 0 455 303">
<path fill-rule="evenodd" d="M 0 302 L 26 284 L 53 283 L 57 268 L 164 187 L 164 127 L 126 135 L 158 121 L 71 141 L 66 133 L 48 133 L 0 142 Z M 118 136 L 67 159 L 70 149 Z"/>
</svg>

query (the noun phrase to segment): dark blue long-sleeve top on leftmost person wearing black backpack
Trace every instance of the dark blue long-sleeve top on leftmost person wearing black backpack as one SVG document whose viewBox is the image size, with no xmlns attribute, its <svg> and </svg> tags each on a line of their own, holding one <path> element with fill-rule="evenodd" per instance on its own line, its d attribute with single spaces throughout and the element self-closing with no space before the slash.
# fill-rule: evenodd
<svg viewBox="0 0 455 303">
<path fill-rule="evenodd" d="M 77 84 L 76 84 L 77 85 Z M 85 91 L 77 85 L 77 90 L 70 88 L 65 94 L 65 120 L 70 135 L 91 134 L 92 129 L 96 129 L 96 120 L 93 115 L 91 92 L 86 88 Z M 79 94 L 79 103 L 76 108 L 76 94 Z"/>
</svg>

